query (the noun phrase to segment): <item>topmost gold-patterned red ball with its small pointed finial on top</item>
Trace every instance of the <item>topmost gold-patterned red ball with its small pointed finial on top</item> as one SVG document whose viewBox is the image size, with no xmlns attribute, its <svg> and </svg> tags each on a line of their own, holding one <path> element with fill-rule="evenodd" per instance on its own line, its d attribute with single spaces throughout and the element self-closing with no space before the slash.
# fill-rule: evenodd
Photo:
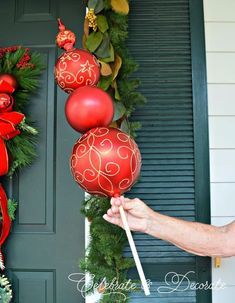
<svg viewBox="0 0 235 303">
<path fill-rule="evenodd" d="M 74 48 L 75 35 L 65 29 L 60 19 L 57 44 L 66 50 L 55 65 L 55 80 L 66 93 L 85 85 L 96 85 L 100 78 L 100 66 L 94 55 Z"/>
</svg>

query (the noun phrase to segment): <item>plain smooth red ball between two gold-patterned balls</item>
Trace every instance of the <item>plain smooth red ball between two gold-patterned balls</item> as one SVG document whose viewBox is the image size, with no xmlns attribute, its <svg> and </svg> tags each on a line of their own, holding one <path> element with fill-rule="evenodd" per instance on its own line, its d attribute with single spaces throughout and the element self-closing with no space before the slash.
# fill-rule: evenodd
<svg viewBox="0 0 235 303">
<path fill-rule="evenodd" d="M 114 115 L 113 101 L 102 89 L 83 86 L 68 97 L 65 115 L 75 130 L 85 133 L 94 127 L 109 126 Z"/>
</svg>

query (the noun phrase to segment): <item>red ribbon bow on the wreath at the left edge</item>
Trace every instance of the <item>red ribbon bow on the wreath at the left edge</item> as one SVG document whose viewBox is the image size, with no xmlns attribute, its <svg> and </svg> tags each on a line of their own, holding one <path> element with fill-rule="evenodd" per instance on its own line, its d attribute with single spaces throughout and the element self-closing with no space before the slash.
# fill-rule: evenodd
<svg viewBox="0 0 235 303">
<path fill-rule="evenodd" d="M 24 119 L 18 112 L 0 113 L 0 176 L 8 173 L 8 153 L 5 140 L 10 140 L 20 134 L 16 128 Z"/>
</svg>

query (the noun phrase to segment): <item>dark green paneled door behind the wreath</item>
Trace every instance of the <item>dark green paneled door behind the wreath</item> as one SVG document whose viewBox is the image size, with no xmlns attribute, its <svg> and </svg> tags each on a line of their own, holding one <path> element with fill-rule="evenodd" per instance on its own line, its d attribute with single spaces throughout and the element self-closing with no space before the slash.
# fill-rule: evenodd
<svg viewBox="0 0 235 303">
<path fill-rule="evenodd" d="M 19 201 L 5 252 L 15 303 L 84 302 L 68 280 L 84 256 L 84 218 L 79 213 L 83 192 L 69 170 L 78 134 L 66 123 L 67 94 L 53 77 L 57 17 L 77 33 L 80 44 L 84 14 L 79 0 L 1 1 L 1 46 L 29 46 L 42 54 L 46 65 L 29 108 L 40 129 L 38 158 L 7 185 L 8 195 Z"/>
</svg>

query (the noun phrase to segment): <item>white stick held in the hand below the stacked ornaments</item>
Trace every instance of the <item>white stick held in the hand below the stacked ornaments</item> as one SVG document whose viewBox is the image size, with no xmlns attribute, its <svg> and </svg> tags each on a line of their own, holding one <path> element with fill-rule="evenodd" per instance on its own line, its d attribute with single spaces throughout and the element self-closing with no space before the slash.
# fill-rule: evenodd
<svg viewBox="0 0 235 303">
<path fill-rule="evenodd" d="M 142 265 L 140 263 L 140 258 L 139 258 L 139 255 L 137 253 L 135 242 L 133 240 L 129 225 L 127 223 L 126 215 L 125 215 L 125 212 L 124 212 L 124 209 L 123 209 L 122 205 L 119 207 L 119 211 L 120 211 L 120 215 L 121 215 L 121 218 L 122 218 L 122 223 L 123 223 L 123 226 L 125 228 L 126 235 L 127 235 L 130 247 L 131 247 L 131 251 L 132 251 L 132 254 L 133 254 L 133 257 L 134 257 L 134 260 L 135 260 L 135 265 L 137 267 L 137 270 L 138 270 L 138 273 L 139 273 L 139 276 L 140 276 L 140 280 L 141 280 L 141 283 L 142 283 L 142 286 L 143 286 L 143 289 L 144 289 L 144 293 L 145 293 L 146 296 L 149 296 L 150 291 L 149 291 L 149 288 L 148 288 L 148 284 L 147 284 L 147 281 L 146 281 L 146 278 L 145 278 L 145 275 L 144 275 Z"/>
</svg>

